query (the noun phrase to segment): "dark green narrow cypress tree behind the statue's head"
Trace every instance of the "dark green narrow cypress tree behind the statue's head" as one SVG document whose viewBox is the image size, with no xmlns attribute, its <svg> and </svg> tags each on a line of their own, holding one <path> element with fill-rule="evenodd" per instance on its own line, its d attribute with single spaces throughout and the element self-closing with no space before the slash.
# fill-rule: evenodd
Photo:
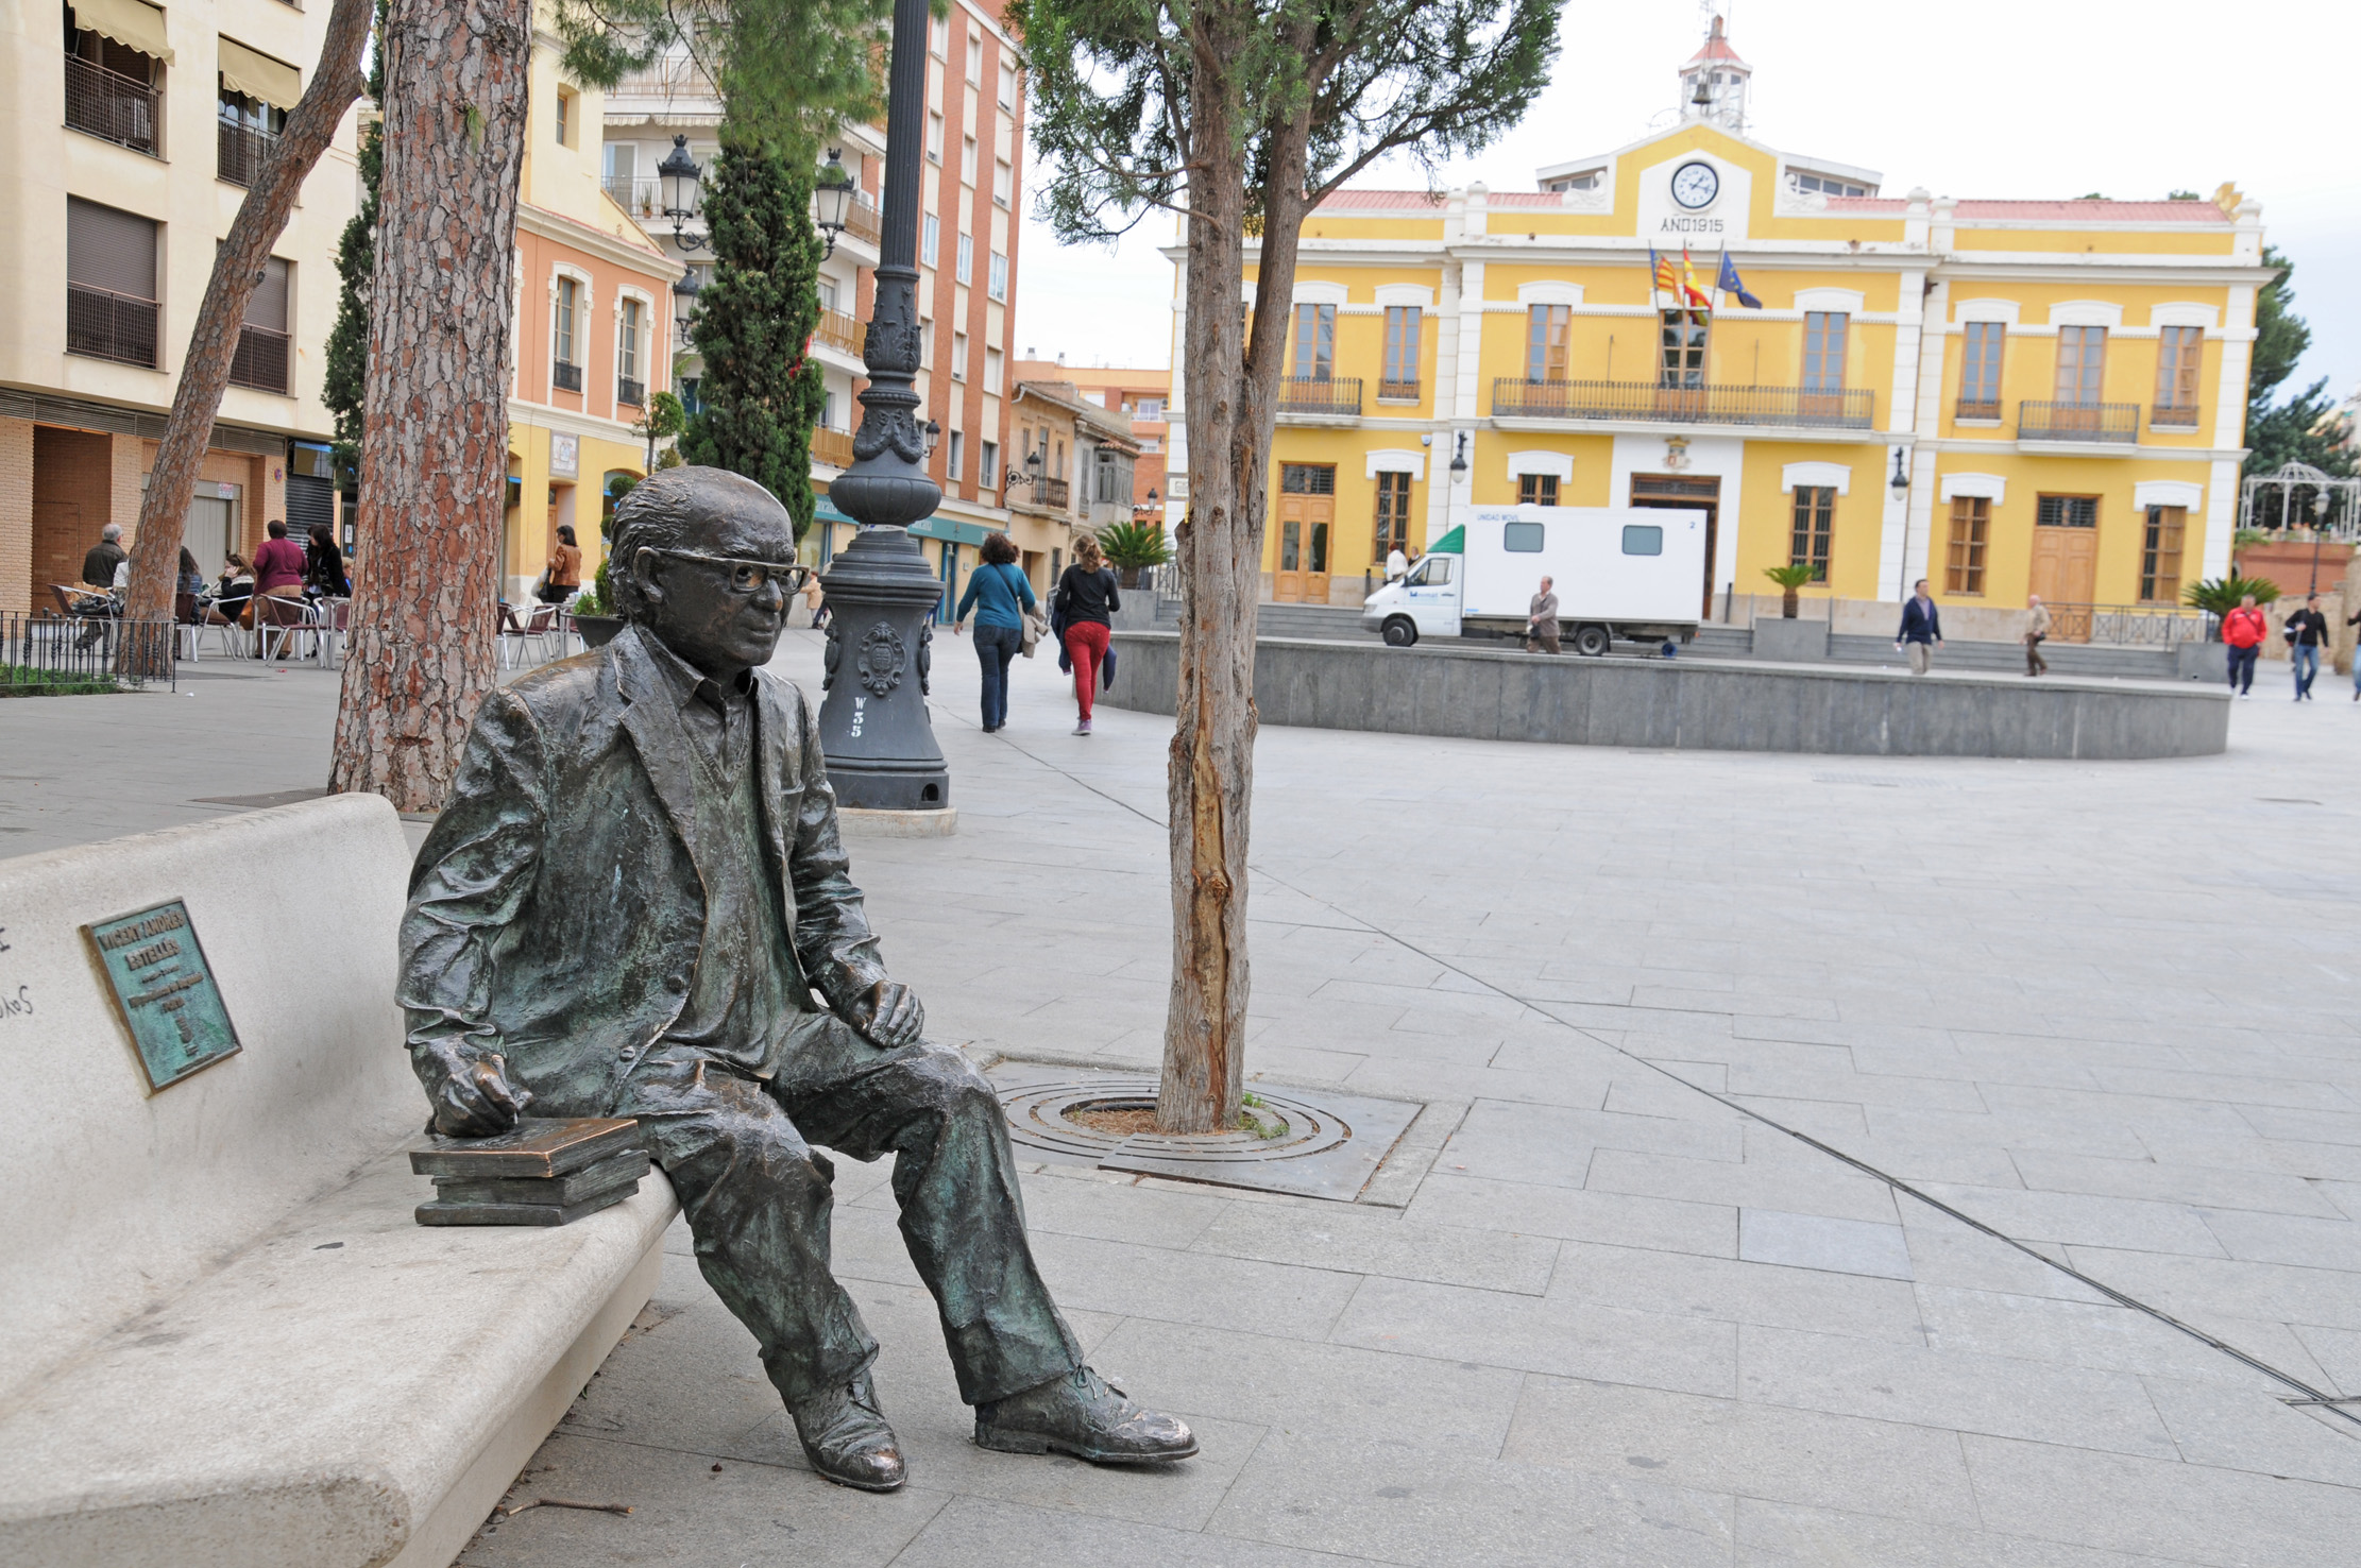
<svg viewBox="0 0 2361 1568">
<path fill-rule="evenodd" d="M 713 281 L 696 295 L 699 409 L 680 456 L 746 475 L 812 527 L 812 425 L 826 399 L 810 359 L 819 328 L 819 231 L 812 170 L 777 144 L 734 139 L 706 172 Z"/>
</svg>

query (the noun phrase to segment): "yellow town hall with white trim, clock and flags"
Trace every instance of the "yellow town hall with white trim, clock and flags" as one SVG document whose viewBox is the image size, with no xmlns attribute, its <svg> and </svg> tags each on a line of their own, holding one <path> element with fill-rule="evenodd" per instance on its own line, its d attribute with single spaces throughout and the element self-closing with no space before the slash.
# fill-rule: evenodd
<svg viewBox="0 0 2361 1568">
<path fill-rule="evenodd" d="M 1681 99 L 1537 191 L 1348 189 L 1306 217 L 1268 597 L 1358 605 L 1388 548 L 1518 501 L 1702 505 L 1714 619 L 1790 562 L 1844 631 L 1889 631 L 1927 576 L 1953 635 L 2002 638 L 2028 593 L 2174 605 L 2229 569 L 2257 203 L 1886 196 L 1747 137 L 1719 21 Z M 1247 274 L 1251 307 L 1251 241 Z"/>
</svg>

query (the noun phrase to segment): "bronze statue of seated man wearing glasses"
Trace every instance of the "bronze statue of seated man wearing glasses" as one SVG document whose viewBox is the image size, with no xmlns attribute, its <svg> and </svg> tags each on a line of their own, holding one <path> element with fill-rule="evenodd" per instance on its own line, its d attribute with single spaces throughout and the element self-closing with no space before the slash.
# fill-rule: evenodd
<svg viewBox="0 0 2361 1568">
<path fill-rule="evenodd" d="M 812 711 L 763 671 L 793 564 L 760 484 L 659 472 L 614 517 L 630 626 L 484 699 L 401 923 L 434 1126 L 637 1117 L 829 1481 L 892 1490 L 902 1452 L 878 1346 L 829 1273 L 833 1171 L 812 1145 L 895 1157 L 980 1445 L 1195 1455 L 1185 1424 L 1084 1365 L 1025 1242 L 992 1086 L 885 975 Z"/>
</svg>

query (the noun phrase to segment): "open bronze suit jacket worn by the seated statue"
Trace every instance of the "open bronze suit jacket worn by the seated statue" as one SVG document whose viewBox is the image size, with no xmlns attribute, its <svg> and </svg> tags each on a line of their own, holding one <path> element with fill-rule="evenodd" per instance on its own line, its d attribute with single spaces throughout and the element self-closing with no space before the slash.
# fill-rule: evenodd
<svg viewBox="0 0 2361 1568">
<path fill-rule="evenodd" d="M 602 1115 L 687 1006 L 704 940 L 694 744 L 640 628 L 484 699 L 411 871 L 408 1041 L 501 1053 L 536 1115 Z M 796 994 L 843 1013 L 885 978 L 803 694 L 753 673 L 765 874 Z"/>
</svg>

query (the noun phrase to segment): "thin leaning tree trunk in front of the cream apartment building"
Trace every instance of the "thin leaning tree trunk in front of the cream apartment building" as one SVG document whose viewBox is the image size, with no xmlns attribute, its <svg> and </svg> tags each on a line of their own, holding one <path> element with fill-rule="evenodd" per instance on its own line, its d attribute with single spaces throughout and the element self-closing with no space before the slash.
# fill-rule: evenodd
<svg viewBox="0 0 2361 1568">
<path fill-rule="evenodd" d="M 132 619 L 172 616 L 189 494 L 196 489 L 196 472 L 212 444 L 212 420 L 222 411 L 222 392 L 229 387 L 229 366 L 238 354 L 246 305 L 255 295 L 272 246 L 288 227 L 288 213 L 295 210 L 302 182 L 312 175 L 319 156 L 328 151 L 335 128 L 345 123 L 345 111 L 368 85 L 361 76 L 361 52 L 368 45 L 371 9 L 373 0 L 335 0 L 319 64 L 312 68 L 312 85 L 295 99 L 279 146 L 264 158 L 262 172 L 248 187 L 246 201 L 238 203 L 238 217 L 229 224 L 229 239 L 212 255 L 212 279 L 196 307 L 196 331 L 182 357 L 172 413 L 163 427 L 163 444 L 156 449 L 156 468 L 149 470 L 146 498 L 139 503 L 132 586 L 125 602 L 125 614 Z M 172 673 L 170 640 L 125 642 L 125 656 L 151 666 L 139 671 L 144 675 Z"/>
</svg>

